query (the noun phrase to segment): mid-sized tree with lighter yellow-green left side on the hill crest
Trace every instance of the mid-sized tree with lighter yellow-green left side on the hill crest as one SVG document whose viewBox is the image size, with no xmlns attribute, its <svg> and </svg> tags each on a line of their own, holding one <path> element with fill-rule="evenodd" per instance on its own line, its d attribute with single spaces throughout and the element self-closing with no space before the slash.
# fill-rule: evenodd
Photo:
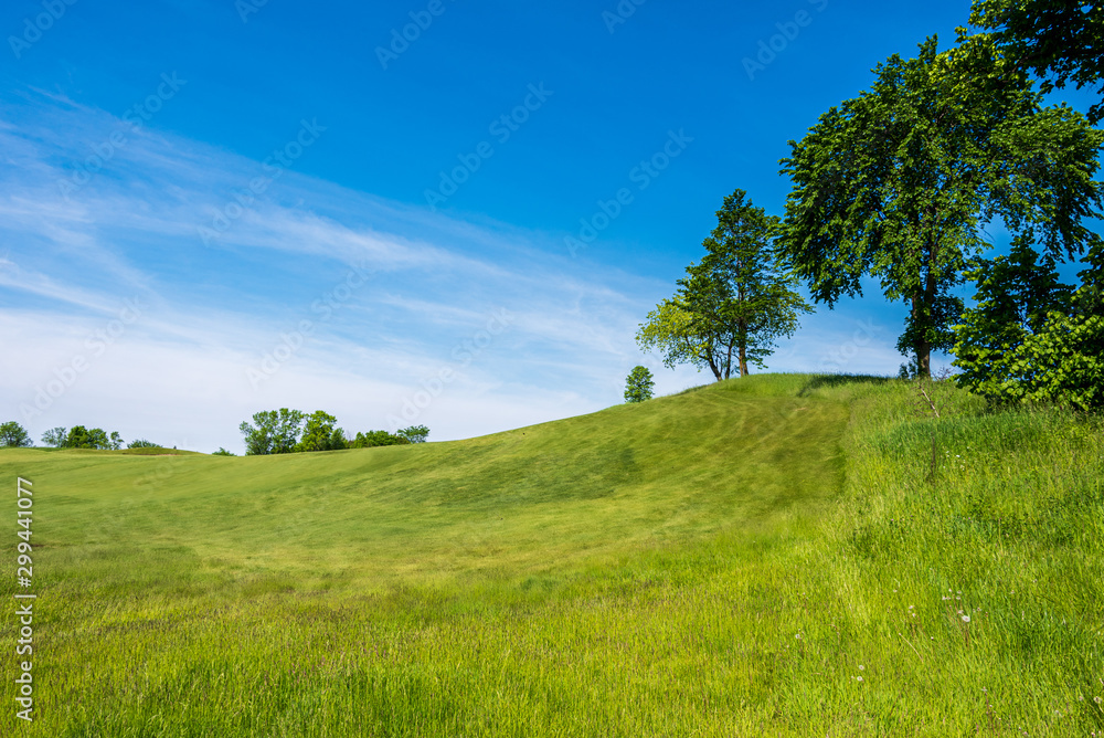
<svg viewBox="0 0 1104 738">
<path fill-rule="evenodd" d="M 664 363 L 709 367 L 718 379 L 749 363 L 764 366 L 775 340 L 792 336 L 797 316 L 811 309 L 774 249 L 778 219 L 756 208 L 744 190 L 724 198 L 705 255 L 687 267 L 673 298 L 648 314 L 637 341 L 658 349 Z"/>
</svg>

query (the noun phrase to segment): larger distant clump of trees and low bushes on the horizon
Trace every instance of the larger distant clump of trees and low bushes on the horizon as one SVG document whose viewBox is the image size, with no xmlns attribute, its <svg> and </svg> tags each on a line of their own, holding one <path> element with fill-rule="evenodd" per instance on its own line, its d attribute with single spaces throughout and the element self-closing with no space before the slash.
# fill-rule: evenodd
<svg viewBox="0 0 1104 738">
<path fill-rule="evenodd" d="M 238 430 L 245 440 L 248 456 L 425 443 L 429 436 L 429 429 L 425 425 L 412 425 L 396 433 L 368 431 L 349 439 L 337 422 L 336 417 L 322 410 L 307 414 L 301 410 L 280 408 L 255 413 L 253 422 L 243 422 Z"/>
</svg>

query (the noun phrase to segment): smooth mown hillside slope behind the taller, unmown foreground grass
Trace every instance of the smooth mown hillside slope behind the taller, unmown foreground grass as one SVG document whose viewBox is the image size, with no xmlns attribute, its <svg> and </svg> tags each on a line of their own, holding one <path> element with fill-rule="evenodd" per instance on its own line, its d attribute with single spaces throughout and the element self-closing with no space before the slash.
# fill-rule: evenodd
<svg viewBox="0 0 1104 738">
<path fill-rule="evenodd" d="M 453 443 L 237 458 L 9 451 L 0 468 L 36 482 L 43 584 L 96 589 L 136 550 L 159 552 L 150 581 L 513 576 L 684 544 L 838 492 L 843 404 L 742 389 Z"/>
</svg>

